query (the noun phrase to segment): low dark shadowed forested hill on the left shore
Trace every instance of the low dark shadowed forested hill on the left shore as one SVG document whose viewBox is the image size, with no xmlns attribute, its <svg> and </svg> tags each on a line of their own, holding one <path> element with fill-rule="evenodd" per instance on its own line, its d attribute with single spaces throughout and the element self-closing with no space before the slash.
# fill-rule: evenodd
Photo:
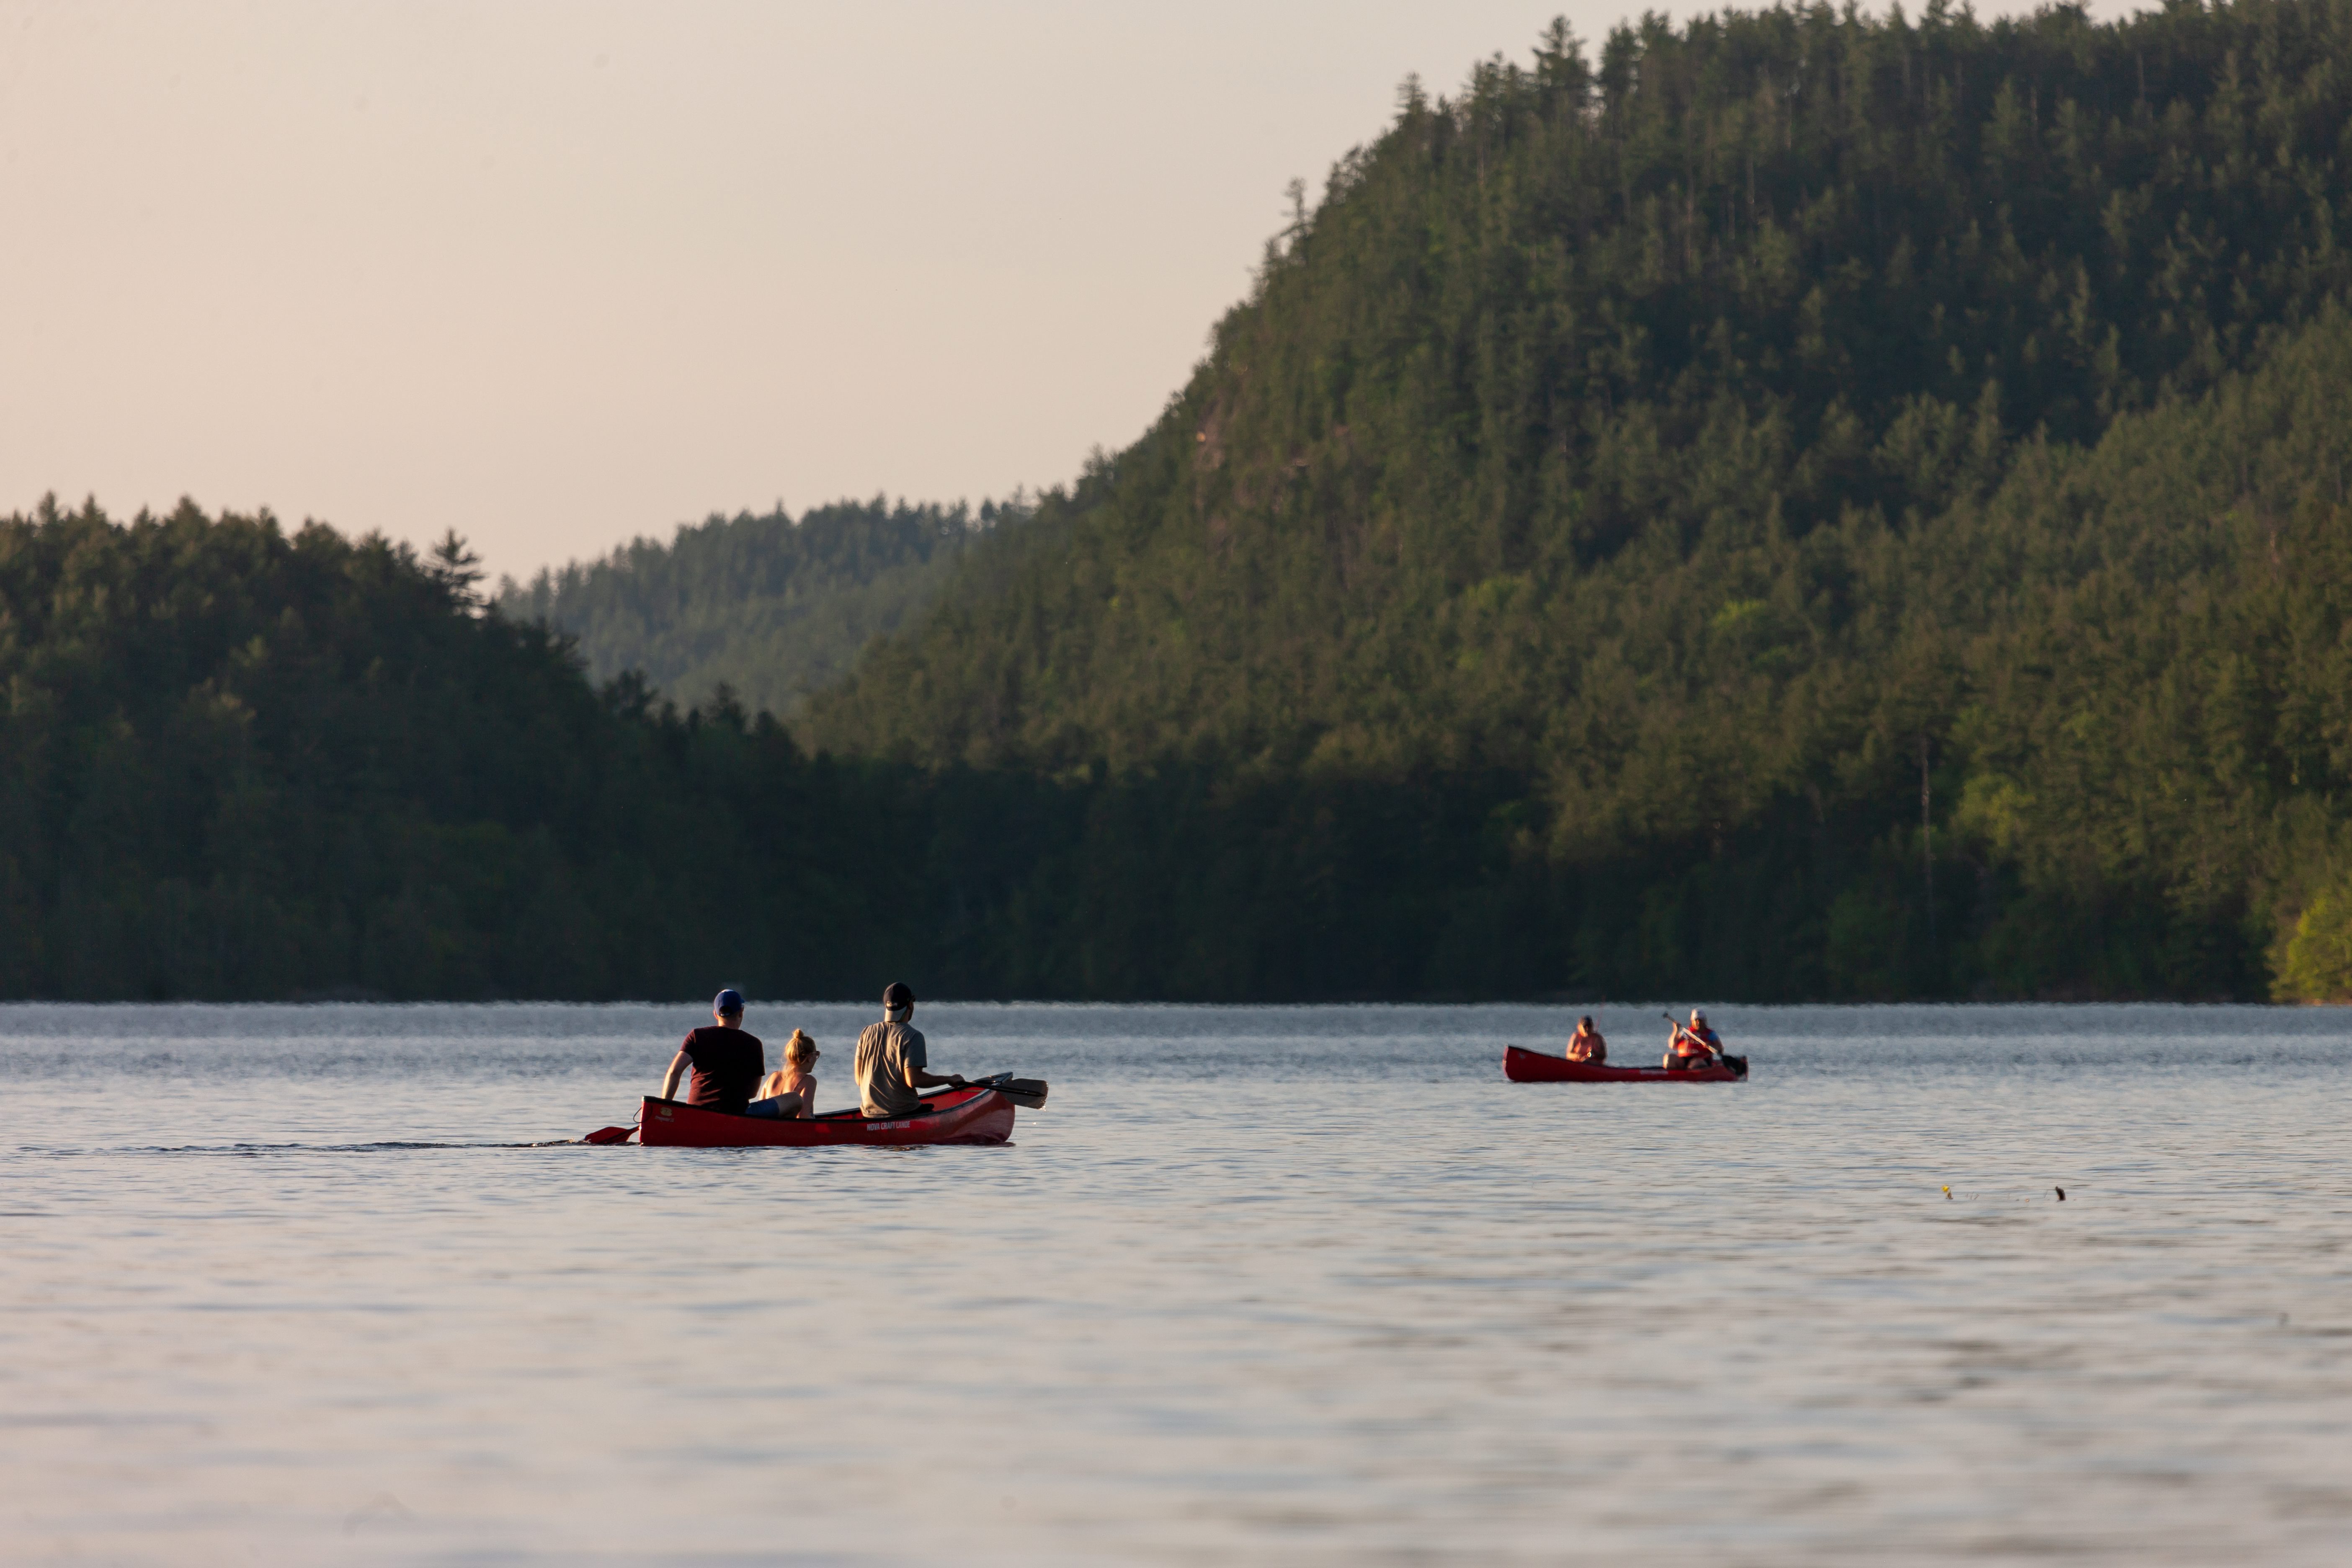
<svg viewBox="0 0 2352 1568">
<path fill-rule="evenodd" d="M 186 503 L 0 517 L 0 997 L 866 994 L 917 957 L 887 788 L 590 689 L 475 578 Z"/>
</svg>

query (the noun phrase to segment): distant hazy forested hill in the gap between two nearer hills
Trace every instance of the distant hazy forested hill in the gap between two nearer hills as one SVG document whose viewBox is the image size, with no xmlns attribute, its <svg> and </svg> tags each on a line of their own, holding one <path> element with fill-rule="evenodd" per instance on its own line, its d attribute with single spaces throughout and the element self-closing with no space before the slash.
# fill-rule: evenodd
<svg viewBox="0 0 2352 1568">
<path fill-rule="evenodd" d="M 802 512 L 739 512 L 640 538 L 612 555 L 499 585 L 499 609 L 579 642 L 588 672 L 640 670 L 680 703 L 729 686 L 746 705 L 790 712 L 849 672 L 873 637 L 924 609 L 978 529 L 1021 508 L 837 501 Z"/>
</svg>

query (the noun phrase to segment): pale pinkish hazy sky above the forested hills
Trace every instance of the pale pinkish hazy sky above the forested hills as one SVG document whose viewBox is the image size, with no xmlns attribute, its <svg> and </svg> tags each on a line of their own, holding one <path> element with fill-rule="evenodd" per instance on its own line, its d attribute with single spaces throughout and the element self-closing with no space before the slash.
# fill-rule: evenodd
<svg viewBox="0 0 2352 1568">
<path fill-rule="evenodd" d="M 0 512 L 186 494 L 524 574 L 1054 484 L 1183 383 L 1291 176 L 1557 12 L 1625 7 L 0 0 Z"/>
</svg>

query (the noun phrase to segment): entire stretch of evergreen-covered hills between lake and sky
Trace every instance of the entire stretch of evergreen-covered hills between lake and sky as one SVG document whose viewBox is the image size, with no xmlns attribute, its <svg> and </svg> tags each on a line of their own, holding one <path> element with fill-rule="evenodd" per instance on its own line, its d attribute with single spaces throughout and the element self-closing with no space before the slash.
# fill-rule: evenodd
<svg viewBox="0 0 2352 1568">
<path fill-rule="evenodd" d="M 2347 468 L 2352 0 L 1555 26 L 1021 527 L 0 522 L 0 994 L 2343 999 Z"/>
</svg>

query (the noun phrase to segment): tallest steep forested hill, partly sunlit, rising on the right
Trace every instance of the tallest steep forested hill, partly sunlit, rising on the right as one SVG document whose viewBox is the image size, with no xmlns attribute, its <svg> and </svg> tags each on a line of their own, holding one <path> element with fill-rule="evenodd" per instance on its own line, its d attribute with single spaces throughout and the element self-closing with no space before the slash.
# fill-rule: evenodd
<svg viewBox="0 0 2352 1568">
<path fill-rule="evenodd" d="M 1399 990 L 2260 994 L 2343 867 L 2347 132 L 2340 0 L 1555 28 L 804 736 L 1317 797 Z"/>
</svg>

